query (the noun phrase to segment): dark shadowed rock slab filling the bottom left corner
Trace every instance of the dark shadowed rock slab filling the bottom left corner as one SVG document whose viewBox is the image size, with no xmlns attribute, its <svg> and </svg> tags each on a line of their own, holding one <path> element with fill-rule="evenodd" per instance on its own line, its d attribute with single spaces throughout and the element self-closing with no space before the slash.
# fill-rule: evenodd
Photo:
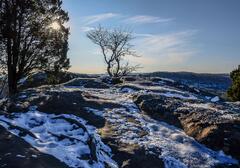
<svg viewBox="0 0 240 168">
<path fill-rule="evenodd" d="M 55 157 L 32 148 L 20 137 L 9 133 L 0 126 L 0 167 L 12 168 L 68 168 Z"/>
</svg>

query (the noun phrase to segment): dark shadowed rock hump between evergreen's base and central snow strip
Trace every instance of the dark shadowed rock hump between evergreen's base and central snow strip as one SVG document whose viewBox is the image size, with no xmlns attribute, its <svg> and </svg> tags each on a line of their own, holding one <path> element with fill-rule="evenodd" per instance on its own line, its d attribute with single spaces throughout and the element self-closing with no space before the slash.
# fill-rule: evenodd
<svg viewBox="0 0 240 168">
<path fill-rule="evenodd" d="M 31 106 L 36 106 L 37 110 L 42 112 L 81 116 L 96 127 L 103 127 L 105 119 L 94 113 L 89 113 L 86 107 L 99 110 L 121 107 L 118 104 L 93 97 L 89 93 L 62 87 L 56 87 L 56 89 L 54 87 L 28 89 L 11 99 L 0 102 L 0 110 L 8 113 L 27 112 Z"/>
</svg>

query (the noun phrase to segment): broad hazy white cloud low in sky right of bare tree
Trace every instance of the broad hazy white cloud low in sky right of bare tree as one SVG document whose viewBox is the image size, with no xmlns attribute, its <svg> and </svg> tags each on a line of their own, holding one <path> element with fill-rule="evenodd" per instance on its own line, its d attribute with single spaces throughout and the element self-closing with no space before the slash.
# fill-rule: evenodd
<svg viewBox="0 0 240 168">
<path fill-rule="evenodd" d="M 138 34 L 136 49 L 152 65 L 173 65 L 186 62 L 195 53 L 192 37 L 197 30 L 188 30 L 171 34 Z M 137 61 L 137 59 L 136 59 Z"/>
</svg>

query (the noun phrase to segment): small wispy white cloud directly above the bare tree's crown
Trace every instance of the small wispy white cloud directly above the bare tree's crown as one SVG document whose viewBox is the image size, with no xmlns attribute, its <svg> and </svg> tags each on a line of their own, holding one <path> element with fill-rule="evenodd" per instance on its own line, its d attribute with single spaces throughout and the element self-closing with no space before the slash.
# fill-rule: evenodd
<svg viewBox="0 0 240 168">
<path fill-rule="evenodd" d="M 98 15 L 86 16 L 83 18 L 83 21 L 85 22 L 85 25 L 91 25 L 117 16 L 119 16 L 117 13 L 101 13 Z"/>
</svg>

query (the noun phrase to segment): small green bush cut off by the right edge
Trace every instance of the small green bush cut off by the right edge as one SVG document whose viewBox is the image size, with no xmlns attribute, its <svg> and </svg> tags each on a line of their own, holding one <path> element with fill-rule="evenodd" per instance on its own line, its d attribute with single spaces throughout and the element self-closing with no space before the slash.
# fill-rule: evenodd
<svg viewBox="0 0 240 168">
<path fill-rule="evenodd" d="M 240 101 L 240 66 L 230 73 L 230 77 L 232 79 L 232 86 L 227 92 L 228 97 L 233 101 Z"/>
</svg>

